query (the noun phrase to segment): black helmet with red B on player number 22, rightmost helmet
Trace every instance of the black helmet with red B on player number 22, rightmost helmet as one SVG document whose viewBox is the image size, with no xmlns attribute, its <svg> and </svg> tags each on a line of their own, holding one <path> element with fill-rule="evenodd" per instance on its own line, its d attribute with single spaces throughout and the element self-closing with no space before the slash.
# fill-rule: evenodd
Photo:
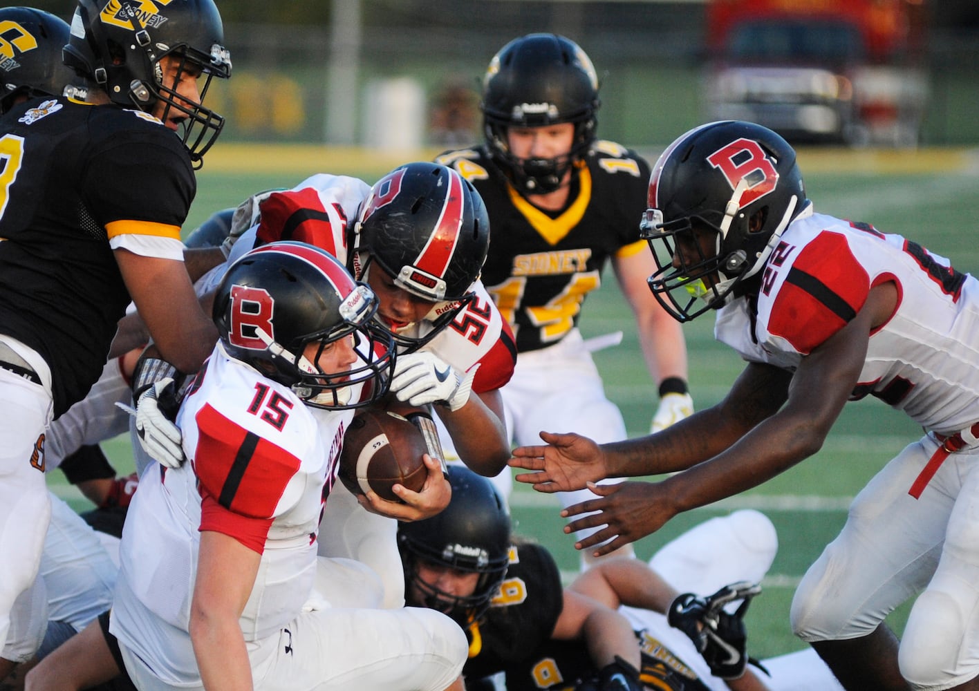
<svg viewBox="0 0 979 691">
<path fill-rule="evenodd" d="M 748 279 L 809 200 L 784 139 L 726 120 L 667 147 L 653 166 L 648 203 L 640 233 L 658 267 L 649 288 L 684 322 L 749 291 L 755 282 Z"/>
</svg>

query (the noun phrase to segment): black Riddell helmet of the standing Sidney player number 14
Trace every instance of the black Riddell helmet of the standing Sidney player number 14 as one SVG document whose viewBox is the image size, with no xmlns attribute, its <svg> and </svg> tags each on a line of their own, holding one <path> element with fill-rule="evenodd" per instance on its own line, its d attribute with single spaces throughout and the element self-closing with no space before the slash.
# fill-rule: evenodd
<svg viewBox="0 0 979 691">
<path fill-rule="evenodd" d="M 489 154 L 523 194 L 553 192 L 565 172 L 595 138 L 598 76 L 591 60 L 572 40 L 532 33 L 503 46 L 483 78 L 483 129 Z M 517 159 L 510 153 L 508 127 L 575 123 L 568 156 Z"/>
</svg>

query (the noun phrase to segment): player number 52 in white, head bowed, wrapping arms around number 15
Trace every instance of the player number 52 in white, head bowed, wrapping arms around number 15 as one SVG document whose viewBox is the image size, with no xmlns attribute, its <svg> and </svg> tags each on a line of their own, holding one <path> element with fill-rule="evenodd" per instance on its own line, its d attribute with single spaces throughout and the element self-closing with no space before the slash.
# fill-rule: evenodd
<svg viewBox="0 0 979 691">
<path fill-rule="evenodd" d="M 378 319 L 398 345 L 391 390 L 412 405 L 431 405 L 443 455 L 465 454 L 477 472 L 492 476 L 510 456 L 500 388 L 516 356 L 509 327 L 480 281 L 489 223 L 479 194 L 452 169 L 416 161 L 399 165 L 373 187 L 342 175 L 313 175 L 291 190 L 263 192 L 235 212 L 231 259 L 263 243 L 308 242 L 346 261 L 378 296 Z M 247 230 L 241 230 L 244 225 Z M 250 227 L 251 226 L 251 227 Z M 223 268 L 199 283 L 207 293 Z M 144 437 L 169 465 L 182 462 L 178 430 L 160 415 L 140 411 Z M 151 404 L 155 401 L 148 401 Z M 444 460 L 444 459 L 443 459 Z M 366 506 L 338 486 L 326 506 L 320 553 L 370 565 L 384 580 L 386 603 L 404 602 L 396 521 L 443 509 L 427 495 L 396 490 L 402 501 L 373 492 Z"/>
</svg>

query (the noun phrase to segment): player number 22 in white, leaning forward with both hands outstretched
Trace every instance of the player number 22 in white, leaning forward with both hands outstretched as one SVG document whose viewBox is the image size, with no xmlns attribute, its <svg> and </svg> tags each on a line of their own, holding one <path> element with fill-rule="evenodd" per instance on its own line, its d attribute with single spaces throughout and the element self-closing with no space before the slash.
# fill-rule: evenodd
<svg viewBox="0 0 979 691">
<path fill-rule="evenodd" d="M 643 233 L 650 287 L 677 320 L 707 311 L 747 362 L 718 405 L 614 445 L 543 435 L 514 451 L 543 491 L 607 475 L 682 471 L 600 488 L 567 510 L 617 547 L 677 513 L 813 455 L 844 403 L 868 394 L 924 430 L 862 490 L 800 584 L 796 633 L 851 689 L 977 688 L 979 284 L 942 256 L 867 223 L 817 213 L 795 152 L 765 127 L 712 122 L 664 152 Z M 618 536 L 617 536 L 618 535 Z M 613 539 L 614 538 L 614 539 Z M 899 645 L 884 622 L 911 595 Z"/>
</svg>

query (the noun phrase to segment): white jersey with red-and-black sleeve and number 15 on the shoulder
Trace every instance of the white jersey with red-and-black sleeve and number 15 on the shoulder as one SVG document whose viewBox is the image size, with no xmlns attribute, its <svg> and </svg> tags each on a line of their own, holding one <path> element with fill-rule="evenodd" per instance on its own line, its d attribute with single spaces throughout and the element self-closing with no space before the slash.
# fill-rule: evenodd
<svg viewBox="0 0 979 691">
<path fill-rule="evenodd" d="M 240 623 L 247 642 L 301 612 L 316 571 L 316 530 L 352 410 L 303 404 L 218 342 L 177 422 L 188 462 L 152 466 L 120 545 L 113 633 L 173 681 L 199 679 L 188 631 L 202 530 L 261 555 Z"/>
</svg>

